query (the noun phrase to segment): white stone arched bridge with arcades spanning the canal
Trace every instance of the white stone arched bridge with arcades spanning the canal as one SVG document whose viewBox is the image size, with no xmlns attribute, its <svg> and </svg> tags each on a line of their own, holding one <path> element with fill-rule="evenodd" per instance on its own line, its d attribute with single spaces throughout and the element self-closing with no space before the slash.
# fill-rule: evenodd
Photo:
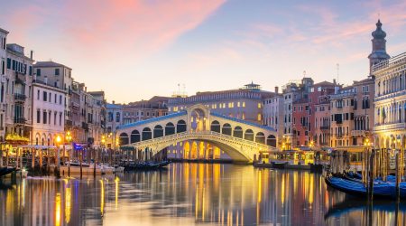
<svg viewBox="0 0 406 226">
<path fill-rule="evenodd" d="M 139 152 L 137 158 L 171 147 L 180 150 L 183 158 L 199 159 L 213 155 L 210 146 L 234 161 L 252 162 L 260 153 L 276 150 L 278 144 L 272 127 L 223 116 L 203 105 L 118 127 L 116 135 L 122 148 Z"/>
</svg>

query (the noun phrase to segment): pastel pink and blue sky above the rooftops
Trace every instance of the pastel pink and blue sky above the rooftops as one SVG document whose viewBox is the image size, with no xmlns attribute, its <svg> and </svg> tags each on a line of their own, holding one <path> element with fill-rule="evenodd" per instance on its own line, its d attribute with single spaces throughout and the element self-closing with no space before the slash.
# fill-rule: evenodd
<svg viewBox="0 0 406 226">
<path fill-rule="evenodd" d="M 8 42 L 73 69 L 109 102 L 196 91 L 273 90 L 303 71 L 349 84 L 368 74 L 378 17 L 387 52 L 406 51 L 406 1 L 32 0 L 0 4 Z"/>
</svg>

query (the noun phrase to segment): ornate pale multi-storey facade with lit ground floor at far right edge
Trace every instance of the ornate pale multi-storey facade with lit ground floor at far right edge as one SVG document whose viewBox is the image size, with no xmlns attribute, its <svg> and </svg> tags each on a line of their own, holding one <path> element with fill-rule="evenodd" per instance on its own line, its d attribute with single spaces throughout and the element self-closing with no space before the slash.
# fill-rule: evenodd
<svg viewBox="0 0 406 226">
<path fill-rule="evenodd" d="M 375 64 L 374 144 L 399 149 L 406 139 L 406 52 Z"/>
</svg>

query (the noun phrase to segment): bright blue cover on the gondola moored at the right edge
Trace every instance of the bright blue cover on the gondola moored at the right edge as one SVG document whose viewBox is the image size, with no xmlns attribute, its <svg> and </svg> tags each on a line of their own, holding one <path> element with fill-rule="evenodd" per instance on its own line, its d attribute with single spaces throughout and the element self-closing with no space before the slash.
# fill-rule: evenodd
<svg viewBox="0 0 406 226">
<path fill-rule="evenodd" d="M 336 176 L 328 175 L 325 177 L 326 184 L 336 188 L 338 191 L 355 196 L 366 196 L 368 194 L 366 187 L 361 182 L 347 180 Z M 400 184 L 400 197 L 406 198 L 406 183 Z M 394 183 L 374 181 L 374 197 L 376 198 L 395 198 L 396 188 Z"/>
</svg>

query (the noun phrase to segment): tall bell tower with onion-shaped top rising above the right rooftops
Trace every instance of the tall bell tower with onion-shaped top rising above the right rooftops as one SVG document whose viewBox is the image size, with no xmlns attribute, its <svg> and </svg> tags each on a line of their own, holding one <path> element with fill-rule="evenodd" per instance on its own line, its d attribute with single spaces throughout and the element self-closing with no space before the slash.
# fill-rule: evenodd
<svg viewBox="0 0 406 226">
<path fill-rule="evenodd" d="M 382 30 L 381 20 L 378 20 L 378 23 L 376 23 L 376 30 L 372 33 L 372 36 L 373 39 L 371 40 L 371 42 L 373 50 L 368 56 L 370 74 L 374 64 L 390 58 L 388 53 L 386 53 L 386 33 Z"/>
</svg>

